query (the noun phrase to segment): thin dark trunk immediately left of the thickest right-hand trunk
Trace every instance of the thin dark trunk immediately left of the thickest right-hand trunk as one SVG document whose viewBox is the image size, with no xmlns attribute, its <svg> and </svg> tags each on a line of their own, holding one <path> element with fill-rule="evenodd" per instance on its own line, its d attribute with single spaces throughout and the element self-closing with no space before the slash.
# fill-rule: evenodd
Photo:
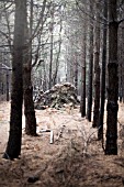
<svg viewBox="0 0 124 187">
<path fill-rule="evenodd" d="M 104 18 L 108 19 L 108 1 L 104 0 Z M 106 21 L 103 25 L 103 48 L 102 48 L 102 74 L 101 74 L 101 98 L 100 98 L 100 116 L 98 127 L 98 140 L 103 139 L 103 118 L 104 118 L 104 102 L 105 102 L 105 72 L 106 72 Z"/>
</svg>

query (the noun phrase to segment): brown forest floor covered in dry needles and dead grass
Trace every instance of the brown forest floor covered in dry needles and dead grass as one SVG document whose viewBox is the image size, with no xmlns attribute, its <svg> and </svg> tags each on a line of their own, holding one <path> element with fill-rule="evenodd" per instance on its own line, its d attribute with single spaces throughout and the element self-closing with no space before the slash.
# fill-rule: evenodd
<svg viewBox="0 0 124 187">
<path fill-rule="evenodd" d="M 20 160 L 3 160 L 10 120 L 10 102 L 0 102 L 0 187 L 123 187 L 124 105 L 119 110 L 119 155 L 104 155 L 97 129 L 82 119 L 79 107 L 36 110 L 38 136 L 24 133 Z M 52 129 L 50 133 L 40 132 Z M 105 123 L 104 123 L 105 133 Z M 105 139 L 105 135 L 104 135 Z M 103 142 L 105 145 L 105 141 Z"/>
</svg>

